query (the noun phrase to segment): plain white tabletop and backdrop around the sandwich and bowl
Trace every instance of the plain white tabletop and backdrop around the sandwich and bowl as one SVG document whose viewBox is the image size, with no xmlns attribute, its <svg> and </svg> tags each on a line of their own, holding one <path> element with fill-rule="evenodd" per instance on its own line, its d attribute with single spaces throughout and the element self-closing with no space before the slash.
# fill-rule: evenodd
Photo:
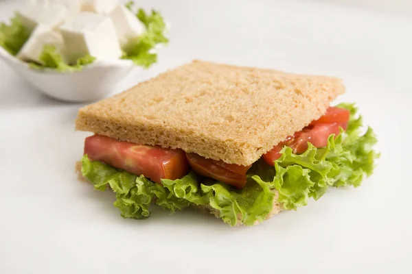
<svg viewBox="0 0 412 274">
<path fill-rule="evenodd" d="M 2 1 L 0 18 L 18 2 Z M 376 129 L 382 158 L 361 188 L 256 227 L 162 210 L 122 219 L 111 193 L 73 172 L 81 104 L 41 95 L 0 62 L 0 273 L 412 273 L 411 5 L 350 2 L 140 1 L 172 22 L 171 42 L 121 88 L 192 58 L 337 75 L 339 101 Z"/>
</svg>

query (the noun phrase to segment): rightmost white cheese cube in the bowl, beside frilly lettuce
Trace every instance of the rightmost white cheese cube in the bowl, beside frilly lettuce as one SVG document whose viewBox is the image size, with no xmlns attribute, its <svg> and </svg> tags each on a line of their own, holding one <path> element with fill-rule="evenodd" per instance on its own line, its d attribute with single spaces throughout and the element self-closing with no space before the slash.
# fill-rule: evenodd
<svg viewBox="0 0 412 274">
<path fill-rule="evenodd" d="M 141 23 L 135 14 L 130 12 L 124 5 L 116 5 L 109 16 L 112 18 L 113 24 L 115 24 L 117 36 L 122 47 L 125 47 L 128 42 L 146 32 L 144 23 Z"/>
</svg>

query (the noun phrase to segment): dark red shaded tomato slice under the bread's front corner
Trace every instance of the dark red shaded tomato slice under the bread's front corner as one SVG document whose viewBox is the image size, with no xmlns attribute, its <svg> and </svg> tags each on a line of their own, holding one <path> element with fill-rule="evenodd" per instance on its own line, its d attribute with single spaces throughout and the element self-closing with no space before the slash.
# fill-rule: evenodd
<svg viewBox="0 0 412 274">
<path fill-rule="evenodd" d="M 238 174 L 236 172 L 225 169 L 225 167 L 217 164 L 214 160 L 203 158 L 201 155 L 195 153 L 186 153 L 187 160 L 189 160 L 190 167 L 205 177 L 217 179 L 220 182 L 243 188 L 246 184 L 246 172 Z"/>
</svg>

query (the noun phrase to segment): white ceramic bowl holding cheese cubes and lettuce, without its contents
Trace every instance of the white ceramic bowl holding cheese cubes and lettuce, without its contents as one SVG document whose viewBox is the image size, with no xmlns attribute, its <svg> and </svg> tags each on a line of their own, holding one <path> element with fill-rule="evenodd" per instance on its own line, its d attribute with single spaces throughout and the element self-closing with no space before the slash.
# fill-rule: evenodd
<svg viewBox="0 0 412 274">
<path fill-rule="evenodd" d="M 72 102 L 101 99 L 113 92 L 115 86 L 130 71 L 135 68 L 143 70 L 130 60 L 102 60 L 74 73 L 60 73 L 52 69 L 38 71 L 30 69 L 27 63 L 10 55 L 2 47 L 0 58 L 41 92 L 62 101 Z"/>
</svg>

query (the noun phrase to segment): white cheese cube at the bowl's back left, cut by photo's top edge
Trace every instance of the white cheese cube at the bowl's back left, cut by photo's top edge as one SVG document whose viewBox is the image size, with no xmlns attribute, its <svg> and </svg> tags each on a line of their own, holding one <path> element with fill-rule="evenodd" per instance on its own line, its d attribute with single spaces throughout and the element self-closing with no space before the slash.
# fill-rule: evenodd
<svg viewBox="0 0 412 274">
<path fill-rule="evenodd" d="M 23 25 L 32 31 L 38 24 L 52 28 L 62 24 L 67 16 L 67 8 L 58 3 L 32 0 L 17 13 Z"/>
</svg>

